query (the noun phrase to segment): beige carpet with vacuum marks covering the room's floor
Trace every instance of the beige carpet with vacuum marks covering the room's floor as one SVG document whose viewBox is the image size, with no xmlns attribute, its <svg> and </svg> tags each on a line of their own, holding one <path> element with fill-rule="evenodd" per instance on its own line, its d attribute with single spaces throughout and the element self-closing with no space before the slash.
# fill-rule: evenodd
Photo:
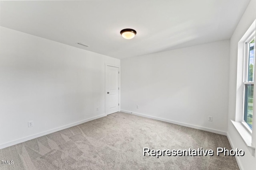
<svg viewBox="0 0 256 170">
<path fill-rule="evenodd" d="M 214 150 L 214 156 L 143 156 L 143 148 Z M 1 160 L 13 160 L 1 170 L 171 169 L 239 170 L 226 136 L 114 113 L 56 133 L 0 150 Z"/>
</svg>

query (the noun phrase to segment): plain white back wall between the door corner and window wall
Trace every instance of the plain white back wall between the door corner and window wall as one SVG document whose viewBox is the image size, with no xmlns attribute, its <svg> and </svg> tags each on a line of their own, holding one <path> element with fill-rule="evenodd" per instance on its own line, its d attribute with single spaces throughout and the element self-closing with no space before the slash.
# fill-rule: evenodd
<svg viewBox="0 0 256 170">
<path fill-rule="evenodd" d="M 121 111 L 226 134 L 229 40 L 122 59 L 121 68 Z"/>
</svg>

